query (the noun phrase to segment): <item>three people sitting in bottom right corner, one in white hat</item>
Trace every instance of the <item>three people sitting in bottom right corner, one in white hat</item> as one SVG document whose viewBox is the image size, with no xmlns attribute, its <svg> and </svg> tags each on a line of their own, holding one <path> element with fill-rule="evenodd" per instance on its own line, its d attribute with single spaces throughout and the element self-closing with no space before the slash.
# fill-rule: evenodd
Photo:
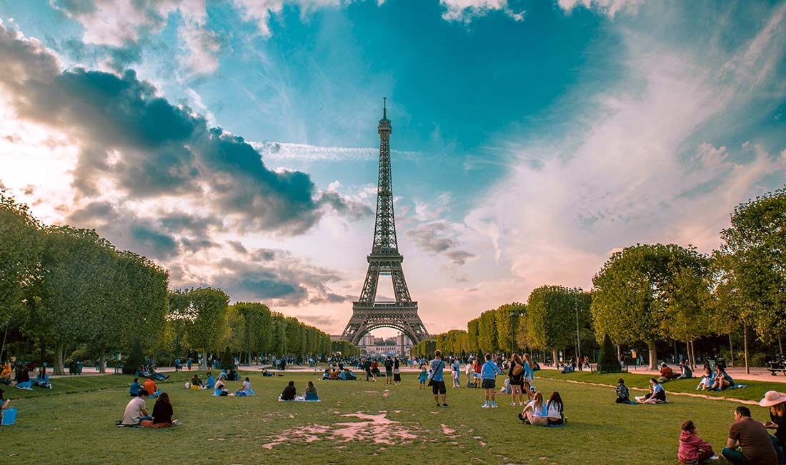
<svg viewBox="0 0 786 465">
<path fill-rule="evenodd" d="M 722 451 L 729 463 L 786 463 L 786 394 L 767 391 L 758 405 L 769 408 L 769 421 L 755 421 L 751 418 L 751 409 L 744 406 L 734 410 L 734 423 L 729 426 L 729 438 Z M 769 434 L 768 429 L 775 430 L 775 434 Z M 699 437 L 692 420 L 682 423 L 679 444 L 679 463 L 703 463 L 705 460 L 718 459 L 710 443 Z"/>
</svg>

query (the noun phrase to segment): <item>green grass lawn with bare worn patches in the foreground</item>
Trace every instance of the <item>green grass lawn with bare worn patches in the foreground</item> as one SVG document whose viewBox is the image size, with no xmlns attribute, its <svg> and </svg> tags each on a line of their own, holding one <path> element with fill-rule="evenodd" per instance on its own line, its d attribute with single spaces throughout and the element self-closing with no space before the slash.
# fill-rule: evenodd
<svg viewBox="0 0 786 465">
<path fill-rule="evenodd" d="M 577 375 L 590 382 L 611 376 Z M 188 373 L 160 383 L 183 423 L 165 430 L 114 426 L 130 398 L 130 376 L 56 379 L 54 390 L 32 393 L 9 388 L 19 415 L 16 425 L 0 428 L 0 463 L 677 463 L 685 419 L 719 452 L 737 405 L 685 396 L 667 405 L 615 405 L 612 387 L 540 377 L 538 390 L 559 390 L 568 419 L 566 427 L 545 428 L 522 425 L 508 396 L 498 396 L 498 409 L 480 408 L 477 389 L 449 390 L 450 408 L 435 408 L 415 374 L 402 375 L 402 386 L 319 381 L 320 403 L 276 401 L 288 380 L 302 392 L 317 373 L 250 376 L 255 397 L 185 390 Z M 751 410 L 766 419 L 766 409 Z M 374 417 L 351 416 L 358 413 Z"/>
</svg>

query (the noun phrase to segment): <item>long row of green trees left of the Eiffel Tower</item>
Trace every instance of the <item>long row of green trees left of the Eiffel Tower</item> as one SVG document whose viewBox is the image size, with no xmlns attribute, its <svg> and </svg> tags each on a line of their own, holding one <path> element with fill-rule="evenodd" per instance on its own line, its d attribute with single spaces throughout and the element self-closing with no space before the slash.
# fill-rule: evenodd
<svg viewBox="0 0 786 465">
<path fill-rule="evenodd" d="M 0 358 L 9 336 L 53 349 L 64 372 L 65 350 L 86 344 L 99 355 L 139 343 L 145 350 L 182 348 L 254 354 L 326 354 L 325 332 L 258 302 L 229 305 L 221 289 L 169 288 L 169 272 L 119 251 L 91 229 L 44 225 L 27 205 L 0 191 Z M 207 358 L 206 356 L 204 357 Z"/>
</svg>

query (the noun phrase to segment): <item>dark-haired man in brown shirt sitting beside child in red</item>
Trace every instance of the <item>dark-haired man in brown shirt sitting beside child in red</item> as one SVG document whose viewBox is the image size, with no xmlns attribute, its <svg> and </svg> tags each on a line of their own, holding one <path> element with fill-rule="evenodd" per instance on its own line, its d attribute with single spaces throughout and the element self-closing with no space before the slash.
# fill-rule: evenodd
<svg viewBox="0 0 786 465">
<path fill-rule="evenodd" d="M 736 450 L 740 448 L 740 450 Z M 734 423 L 729 427 L 729 439 L 723 449 L 725 460 L 742 465 L 776 465 L 778 456 L 767 430 L 751 418 L 751 410 L 740 406 L 734 410 Z"/>
</svg>

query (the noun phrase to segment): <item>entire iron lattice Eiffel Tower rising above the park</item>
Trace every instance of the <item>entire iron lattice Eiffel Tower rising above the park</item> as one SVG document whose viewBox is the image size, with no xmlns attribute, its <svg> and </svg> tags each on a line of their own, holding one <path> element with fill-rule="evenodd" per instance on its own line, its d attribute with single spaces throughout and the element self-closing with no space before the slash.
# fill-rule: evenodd
<svg viewBox="0 0 786 465">
<path fill-rule="evenodd" d="M 387 99 L 384 101 L 387 103 Z M 393 215 L 393 181 L 391 177 L 391 122 L 387 105 L 382 107 L 380 134 L 380 178 L 376 189 L 376 222 L 374 242 L 368 255 L 369 271 L 365 273 L 363 291 L 358 302 L 352 303 L 352 317 L 344 328 L 343 339 L 358 345 L 362 337 L 377 328 L 394 328 L 407 335 L 414 344 L 428 338 L 426 327 L 417 315 L 417 302 L 410 298 L 406 287 L 404 257 L 399 253 Z M 391 276 L 395 302 L 376 302 L 376 284 L 380 276 Z"/>
</svg>

